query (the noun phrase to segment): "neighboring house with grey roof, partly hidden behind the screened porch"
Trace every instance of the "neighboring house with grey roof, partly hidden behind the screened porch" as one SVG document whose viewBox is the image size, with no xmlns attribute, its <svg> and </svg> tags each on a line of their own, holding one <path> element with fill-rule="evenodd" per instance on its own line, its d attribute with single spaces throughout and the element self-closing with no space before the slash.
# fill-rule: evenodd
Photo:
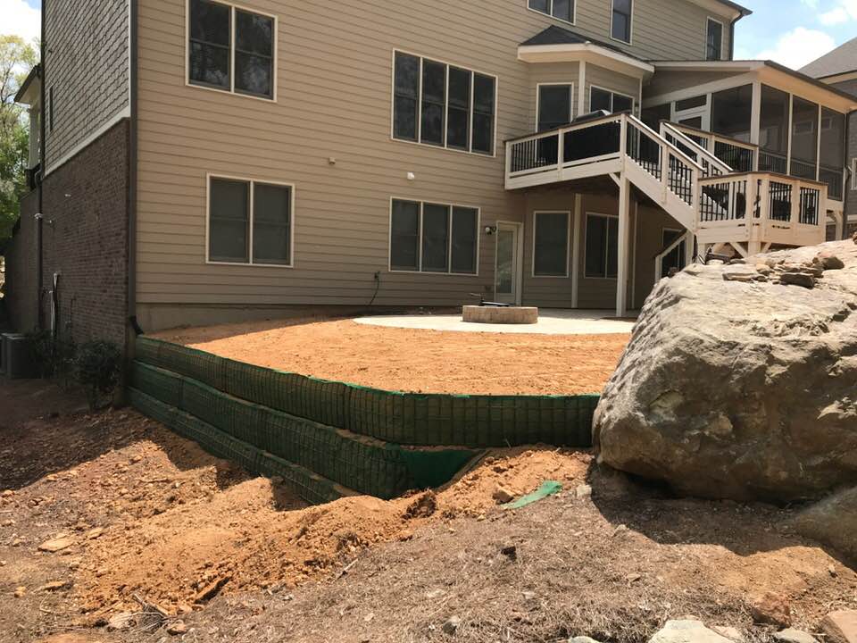
<svg viewBox="0 0 857 643">
<path fill-rule="evenodd" d="M 821 56 L 801 71 L 857 97 L 857 38 Z M 845 213 L 848 219 L 847 234 L 850 236 L 857 232 L 857 114 L 851 115 L 848 124 L 847 158 L 845 185 L 848 194 Z"/>
</svg>

